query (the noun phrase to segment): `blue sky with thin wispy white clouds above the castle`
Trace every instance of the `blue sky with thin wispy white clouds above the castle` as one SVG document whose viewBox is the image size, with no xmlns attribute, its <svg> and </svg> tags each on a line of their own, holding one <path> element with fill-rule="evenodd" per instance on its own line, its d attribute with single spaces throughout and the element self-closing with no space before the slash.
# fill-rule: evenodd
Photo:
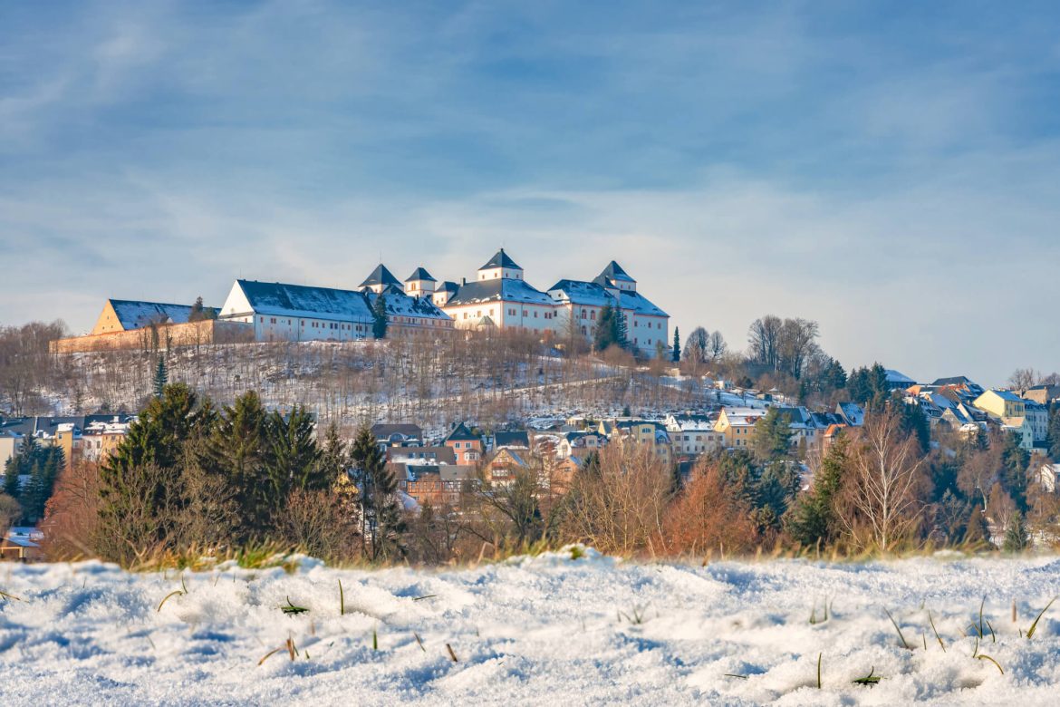
<svg viewBox="0 0 1060 707">
<path fill-rule="evenodd" d="M 0 3 L 0 324 L 612 259 L 734 349 L 1060 370 L 1060 6 Z"/>
</svg>

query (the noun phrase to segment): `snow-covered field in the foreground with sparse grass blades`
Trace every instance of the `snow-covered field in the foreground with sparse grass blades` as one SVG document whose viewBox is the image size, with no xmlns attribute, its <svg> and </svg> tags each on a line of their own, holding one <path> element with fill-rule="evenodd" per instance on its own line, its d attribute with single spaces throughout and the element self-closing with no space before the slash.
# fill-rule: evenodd
<svg viewBox="0 0 1060 707">
<path fill-rule="evenodd" d="M 1060 700 L 1060 604 L 1025 637 L 1060 591 L 1055 558 L 700 567 L 589 551 L 445 571 L 222 566 L 183 584 L 8 564 L 0 590 L 3 705 Z M 870 671 L 874 687 L 852 683 Z"/>
</svg>

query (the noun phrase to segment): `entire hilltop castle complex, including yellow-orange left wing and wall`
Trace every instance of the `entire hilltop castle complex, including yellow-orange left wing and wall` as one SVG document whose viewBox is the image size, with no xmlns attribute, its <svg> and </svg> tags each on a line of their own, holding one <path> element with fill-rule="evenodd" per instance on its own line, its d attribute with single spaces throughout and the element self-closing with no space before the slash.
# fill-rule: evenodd
<svg viewBox="0 0 1060 707">
<path fill-rule="evenodd" d="M 205 320 L 187 305 L 111 299 L 91 334 L 60 339 L 53 350 L 137 348 L 147 332 L 156 344 L 159 337 L 175 343 L 366 339 L 381 298 L 388 329 L 399 334 L 495 326 L 591 338 L 601 310 L 610 305 L 622 313 L 629 343 L 641 354 L 669 343 L 669 315 L 637 293 L 636 280 L 615 261 L 591 281 L 560 280 L 542 291 L 501 248 L 470 282 L 439 283 L 418 267 L 402 283 L 383 264 L 356 289 L 241 279 L 220 307 L 207 307 L 215 317 Z"/>
</svg>

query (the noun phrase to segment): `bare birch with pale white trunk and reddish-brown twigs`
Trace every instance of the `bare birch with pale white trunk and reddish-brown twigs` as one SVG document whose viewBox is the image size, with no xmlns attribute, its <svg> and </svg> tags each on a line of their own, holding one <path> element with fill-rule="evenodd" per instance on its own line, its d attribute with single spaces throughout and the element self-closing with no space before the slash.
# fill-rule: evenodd
<svg viewBox="0 0 1060 707">
<path fill-rule="evenodd" d="M 854 432 L 840 518 L 855 546 L 884 552 L 907 540 L 920 520 L 925 483 L 917 442 L 888 409 Z"/>
</svg>

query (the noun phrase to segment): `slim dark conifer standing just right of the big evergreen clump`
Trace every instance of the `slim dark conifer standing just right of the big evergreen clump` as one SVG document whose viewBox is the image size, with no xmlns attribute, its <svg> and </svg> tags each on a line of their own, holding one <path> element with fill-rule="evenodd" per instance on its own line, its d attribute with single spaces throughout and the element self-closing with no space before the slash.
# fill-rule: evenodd
<svg viewBox="0 0 1060 707">
<path fill-rule="evenodd" d="M 386 458 L 367 425 L 353 440 L 350 461 L 359 491 L 360 534 L 366 554 L 373 562 L 403 556 L 405 522 L 398 503 L 398 479 L 387 469 Z"/>
</svg>

